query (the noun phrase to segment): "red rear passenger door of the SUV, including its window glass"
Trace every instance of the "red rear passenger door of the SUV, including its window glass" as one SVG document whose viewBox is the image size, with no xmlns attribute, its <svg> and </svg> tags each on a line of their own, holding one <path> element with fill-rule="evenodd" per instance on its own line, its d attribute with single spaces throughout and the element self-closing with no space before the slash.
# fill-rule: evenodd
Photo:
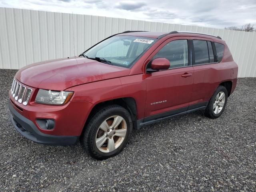
<svg viewBox="0 0 256 192">
<path fill-rule="evenodd" d="M 210 38 L 193 38 L 194 85 L 190 108 L 205 106 L 216 87 L 221 66 L 216 61 L 215 45 Z"/>
</svg>

